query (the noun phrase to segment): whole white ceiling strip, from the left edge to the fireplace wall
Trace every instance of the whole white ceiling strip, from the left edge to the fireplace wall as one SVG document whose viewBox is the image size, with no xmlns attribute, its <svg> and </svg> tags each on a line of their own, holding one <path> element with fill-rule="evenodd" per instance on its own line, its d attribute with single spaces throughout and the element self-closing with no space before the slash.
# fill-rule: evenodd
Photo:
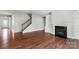
<svg viewBox="0 0 79 59">
<path fill-rule="evenodd" d="M 31 13 L 39 16 L 45 16 L 52 12 L 52 10 L 0 10 L 0 14 L 14 14 L 14 13 Z"/>
</svg>

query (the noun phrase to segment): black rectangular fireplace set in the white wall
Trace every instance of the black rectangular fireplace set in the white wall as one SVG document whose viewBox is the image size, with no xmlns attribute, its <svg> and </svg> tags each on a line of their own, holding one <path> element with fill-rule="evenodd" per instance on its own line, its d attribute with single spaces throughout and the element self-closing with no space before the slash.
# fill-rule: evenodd
<svg viewBox="0 0 79 59">
<path fill-rule="evenodd" d="M 55 26 L 55 36 L 67 38 L 67 26 Z"/>
</svg>

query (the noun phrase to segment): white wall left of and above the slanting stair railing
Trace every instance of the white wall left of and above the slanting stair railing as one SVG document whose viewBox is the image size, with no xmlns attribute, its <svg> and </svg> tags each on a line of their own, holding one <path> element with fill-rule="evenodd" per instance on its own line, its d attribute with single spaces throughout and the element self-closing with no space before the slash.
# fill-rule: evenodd
<svg viewBox="0 0 79 59">
<path fill-rule="evenodd" d="M 22 24 L 29 19 L 29 16 L 24 13 L 15 13 L 14 17 L 14 32 L 21 32 Z"/>
</svg>

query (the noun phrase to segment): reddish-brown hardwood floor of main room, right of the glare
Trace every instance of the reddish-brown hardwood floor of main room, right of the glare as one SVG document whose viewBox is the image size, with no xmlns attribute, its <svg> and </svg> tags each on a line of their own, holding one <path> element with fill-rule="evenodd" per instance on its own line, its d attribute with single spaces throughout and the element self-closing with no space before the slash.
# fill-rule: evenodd
<svg viewBox="0 0 79 59">
<path fill-rule="evenodd" d="M 1 47 L 1 46 L 0 46 Z M 79 40 L 55 37 L 43 31 L 30 33 L 16 33 L 11 44 L 11 49 L 73 49 L 79 48 Z"/>
</svg>

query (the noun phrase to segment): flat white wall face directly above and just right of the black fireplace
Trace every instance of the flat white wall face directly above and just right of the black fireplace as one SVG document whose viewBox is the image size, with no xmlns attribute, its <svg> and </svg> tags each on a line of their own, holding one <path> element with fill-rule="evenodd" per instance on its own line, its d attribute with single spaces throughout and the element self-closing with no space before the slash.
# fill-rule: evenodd
<svg viewBox="0 0 79 59">
<path fill-rule="evenodd" d="M 73 37 L 73 11 L 71 10 L 60 10 L 54 11 L 54 25 L 67 26 L 67 37 Z"/>
</svg>

